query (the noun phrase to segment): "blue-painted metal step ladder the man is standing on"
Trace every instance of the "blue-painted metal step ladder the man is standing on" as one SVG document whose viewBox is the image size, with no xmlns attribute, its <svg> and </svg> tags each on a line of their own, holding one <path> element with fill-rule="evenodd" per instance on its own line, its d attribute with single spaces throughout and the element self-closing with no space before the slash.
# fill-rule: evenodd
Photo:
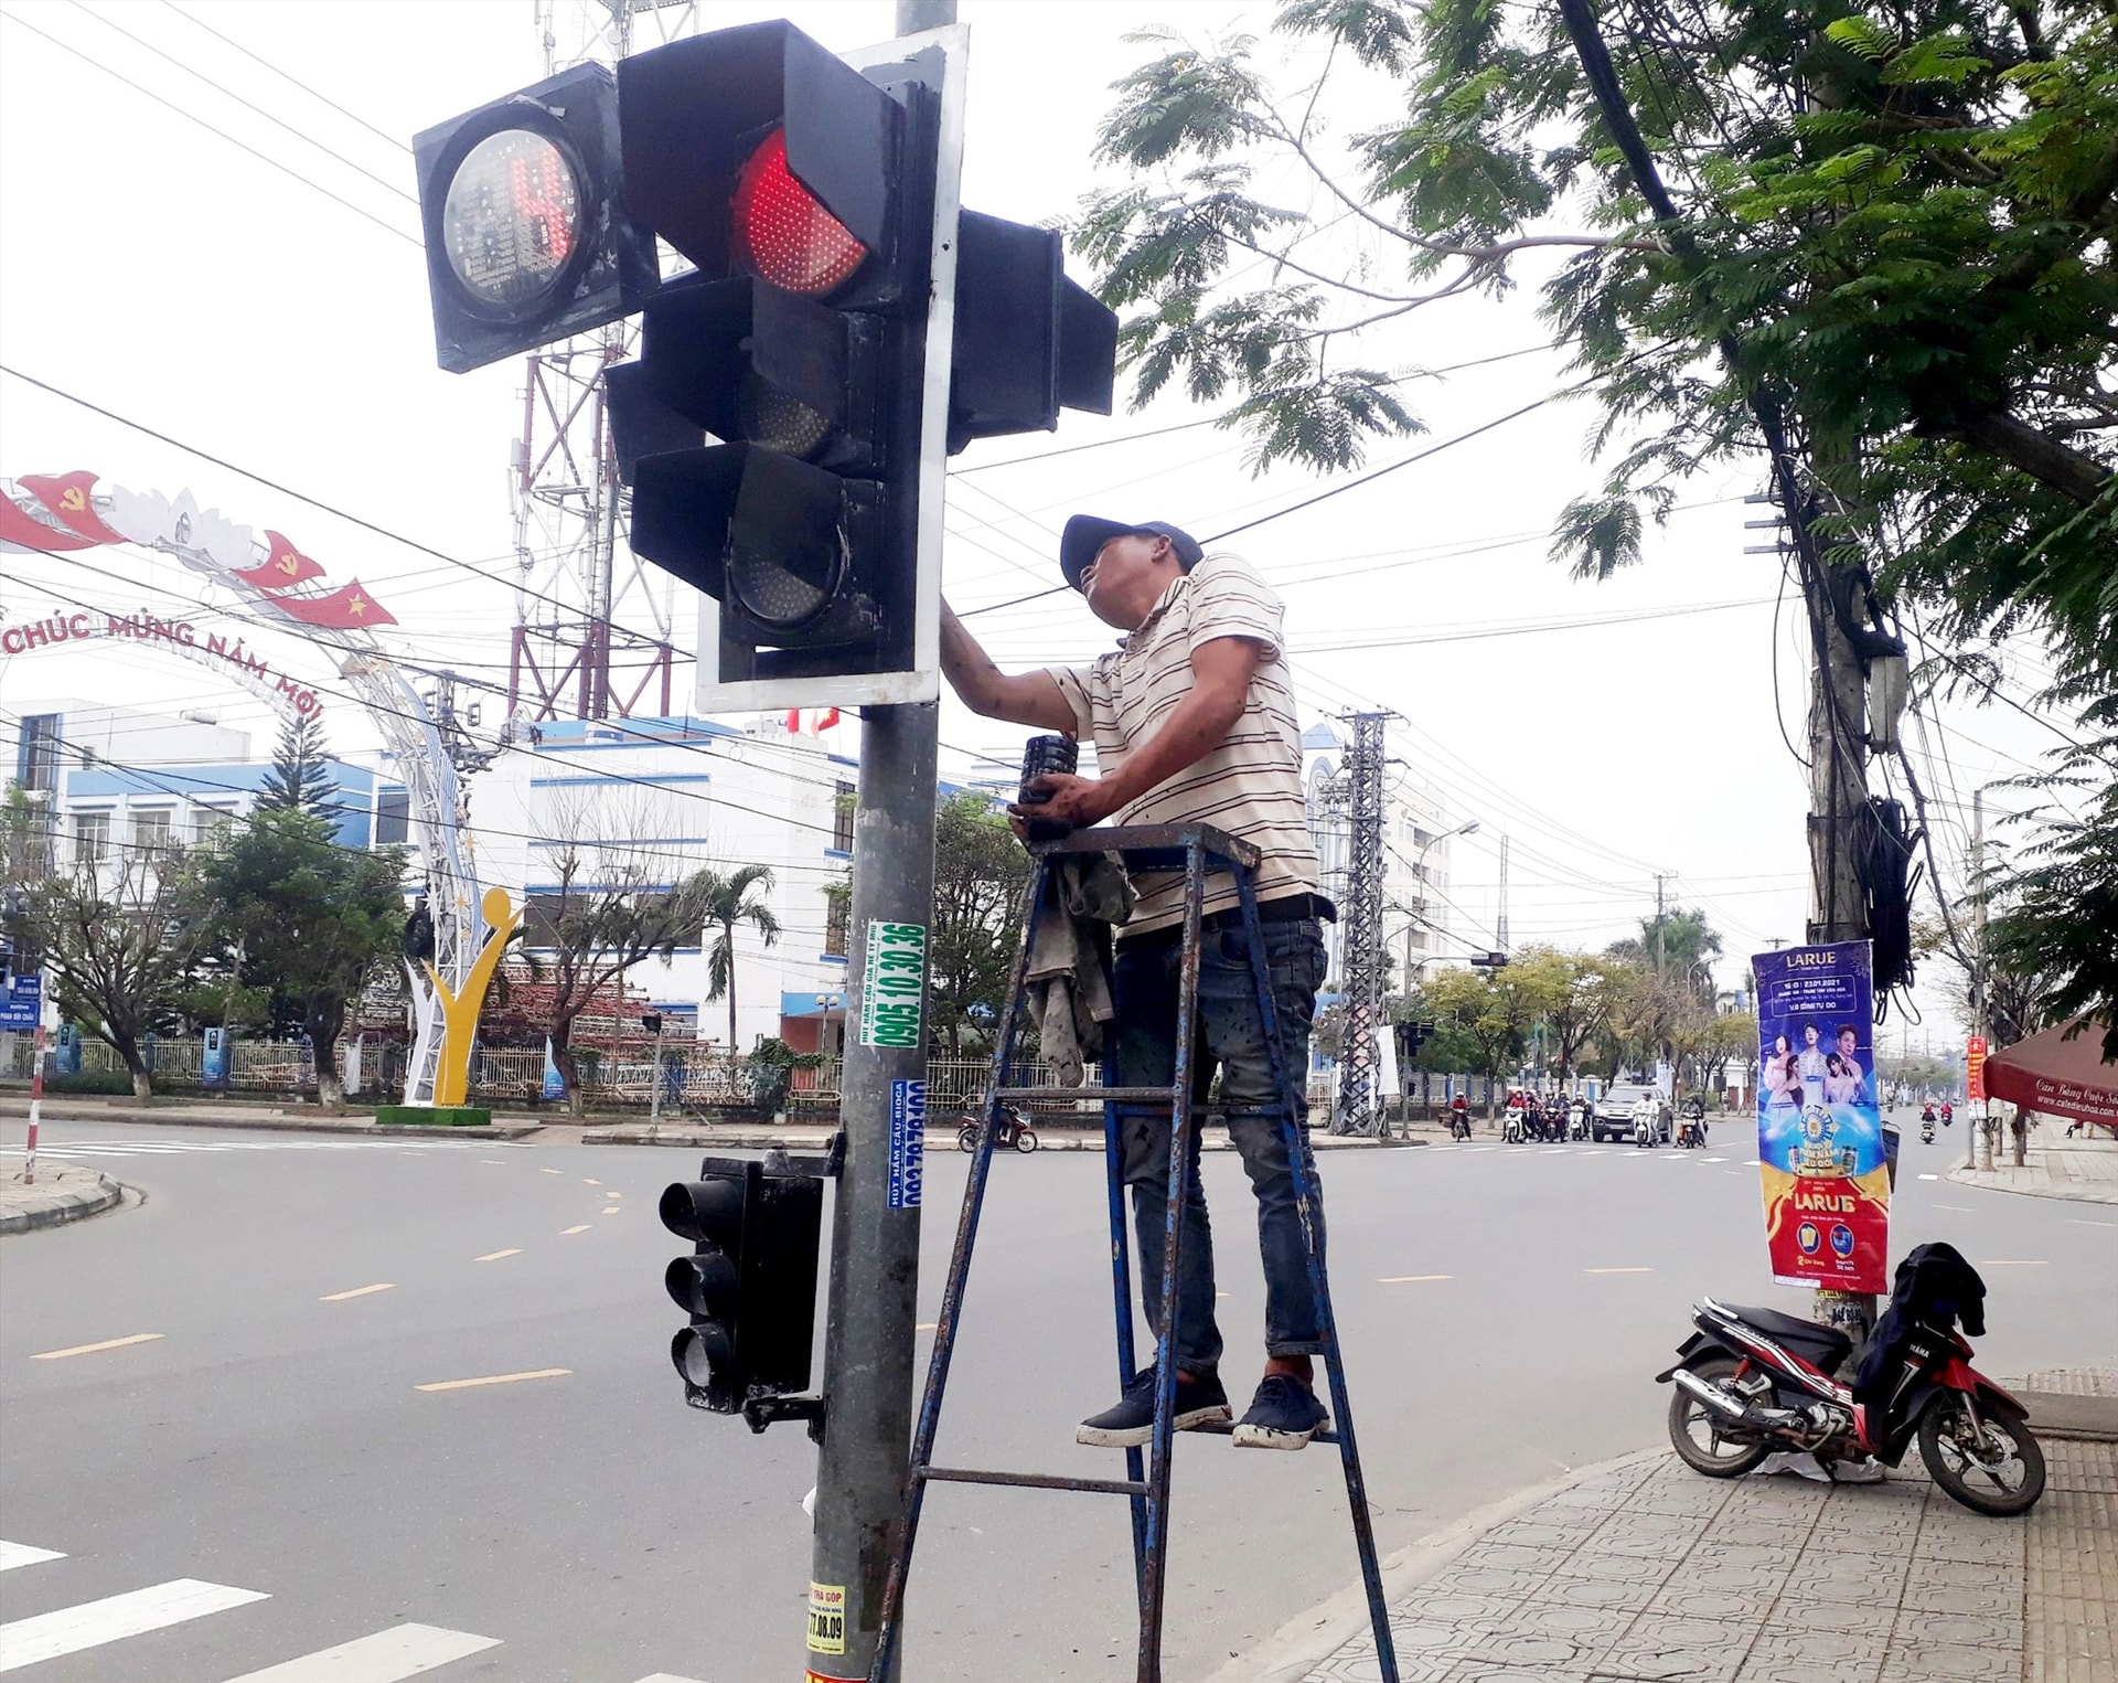
<svg viewBox="0 0 2118 1683">
<path fill-rule="evenodd" d="M 913 1543 L 919 1533 L 919 1509 L 930 1484 L 1010 1484 L 1031 1490 L 1087 1490 L 1095 1494 L 1127 1496 L 1133 1516 L 1133 1577 L 1139 1596 L 1139 1670 L 1137 1683 L 1161 1683 L 1163 1675 L 1163 1598 L 1167 1588 L 1169 1556 L 1169 1463 L 1173 1450 L 1175 1384 L 1173 1361 L 1175 1329 L 1175 1280 L 1178 1246 L 1182 1240 L 1180 1212 L 1184 1208 L 1186 1179 L 1190 1166 L 1192 1119 L 1192 1045 L 1199 1022 L 1199 939 L 1205 903 L 1205 880 L 1214 873 L 1235 878 L 1241 903 L 1243 931 L 1250 945 L 1252 979 L 1258 998 L 1258 1013 L 1264 1022 L 1267 1045 L 1273 1051 L 1273 1077 L 1284 1096 L 1288 1155 L 1294 1164 L 1294 1200 L 1303 1223 L 1303 1240 L 1309 1255 L 1309 1289 L 1315 1295 L 1317 1325 L 1324 1333 L 1324 1363 L 1330 1380 L 1332 1424 L 1320 1431 L 1315 1441 L 1336 1443 L 1345 1467 L 1345 1494 L 1353 1513 L 1353 1543 L 1360 1554 L 1360 1575 L 1368 1590 L 1368 1617 L 1375 1628 L 1375 1653 L 1383 1683 L 1398 1683 L 1398 1658 L 1392 1643 L 1389 1617 L 1383 1607 L 1383 1579 L 1375 1558 L 1375 1528 L 1368 1522 L 1368 1492 L 1360 1475 L 1360 1450 L 1353 1441 L 1353 1407 L 1347 1399 L 1345 1367 L 1339 1354 L 1339 1325 L 1330 1306 L 1330 1282 L 1324 1274 L 1324 1257 L 1317 1255 L 1315 1225 L 1311 1221 L 1311 1200 L 1315 1181 L 1309 1155 L 1294 1121 L 1298 1098 L 1296 1081 L 1307 1079 L 1307 1070 L 1290 1070 L 1279 1056 L 1279 1039 L 1273 1032 L 1273 990 L 1264 969 L 1264 937 L 1258 922 L 1258 897 L 1252 871 L 1258 865 L 1258 850 L 1248 842 L 1237 842 L 1224 831 L 1207 825 L 1167 825 L 1131 829 L 1089 829 L 1061 842 L 1031 846 L 1029 890 L 1025 894 L 1023 943 L 1015 960 L 1015 984 L 1008 1005 L 1000 1015 L 1000 1032 L 993 1043 L 993 1070 L 985 1087 L 985 1126 L 979 1130 L 979 1145 L 970 1159 L 970 1176 L 964 1185 L 964 1212 L 957 1219 L 955 1251 L 949 1257 L 949 1278 L 943 1287 L 940 1316 L 934 1327 L 934 1352 L 928 1361 L 926 1395 L 919 1401 L 919 1420 L 913 1431 L 911 1471 L 904 1488 L 904 1522 L 898 1530 L 896 1552 L 890 1560 L 890 1577 L 883 1585 L 881 1628 L 875 1645 L 875 1666 L 870 1683 L 892 1683 L 896 1677 L 898 1636 L 904 1619 L 904 1585 L 911 1573 Z M 1110 1287 L 1118 1321 L 1118 1382 L 1133 1378 L 1133 1278 L 1131 1251 L 1125 1219 L 1125 1185 L 1120 1172 L 1120 1134 L 1116 1104 L 1169 1104 L 1173 1126 L 1169 1130 L 1169 1208 L 1163 1225 L 1163 1295 L 1161 1325 L 1154 1329 L 1154 1431 L 1148 1439 L 1148 1456 L 1142 1460 L 1139 1448 L 1125 1452 L 1123 1480 L 1063 1477 L 1057 1473 L 1008 1473 L 972 1467 L 936 1467 L 934 1435 L 940 1429 L 940 1403 L 949 1384 L 949 1361 L 955 1352 L 957 1312 L 964 1306 L 964 1287 L 970 1278 L 970 1255 L 979 1238 L 979 1210 L 985 1204 L 985 1176 L 993 1159 L 993 1138 L 998 1134 L 1002 1106 L 1017 1100 L 1048 1100 L 1051 1087 L 1010 1085 L 1015 1064 L 1015 1043 L 1023 1024 L 1023 1000 L 1027 992 L 1029 950 L 1036 935 L 1036 920 L 1048 909 L 1055 863 L 1063 854 L 1114 852 L 1125 861 L 1127 871 L 1182 871 L 1184 873 L 1184 945 L 1178 981 L 1178 1041 L 1175 1079 L 1167 1087 L 1103 1087 L 1103 1159 L 1110 1189 Z M 1084 1094 L 1089 1089 L 1082 1089 Z M 1228 1433 L 1231 1427 L 1207 1427 L 1205 1431 Z"/>
</svg>

